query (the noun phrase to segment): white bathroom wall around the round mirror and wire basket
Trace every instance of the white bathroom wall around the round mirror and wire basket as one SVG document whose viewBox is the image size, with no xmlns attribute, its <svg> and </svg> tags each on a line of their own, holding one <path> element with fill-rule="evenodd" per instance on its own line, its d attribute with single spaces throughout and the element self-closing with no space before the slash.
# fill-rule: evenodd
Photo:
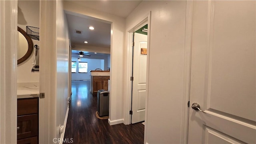
<svg viewBox="0 0 256 144">
<path fill-rule="evenodd" d="M 26 26 L 39 28 L 39 0 L 18 0 L 18 26 L 26 32 Z M 34 45 L 39 45 L 38 40 L 32 39 Z M 31 72 L 34 54 L 24 62 L 18 64 L 17 82 L 39 82 L 39 72 Z"/>
</svg>

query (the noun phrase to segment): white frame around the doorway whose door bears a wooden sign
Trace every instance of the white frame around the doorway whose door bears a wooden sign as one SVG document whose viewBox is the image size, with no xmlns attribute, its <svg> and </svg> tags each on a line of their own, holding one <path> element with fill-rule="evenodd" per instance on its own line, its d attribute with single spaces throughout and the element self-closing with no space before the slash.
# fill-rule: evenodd
<svg viewBox="0 0 256 144">
<path fill-rule="evenodd" d="M 150 20 L 151 18 L 151 11 L 148 12 L 148 14 L 141 19 L 136 25 L 132 26 L 132 28 L 130 28 L 127 32 L 127 48 L 128 48 L 128 53 L 127 53 L 127 62 L 128 62 L 128 66 L 127 66 L 127 70 L 128 70 L 128 79 L 130 80 L 130 77 L 132 76 L 132 53 L 133 53 L 133 46 L 132 46 L 132 42 L 133 42 L 133 33 L 138 30 L 143 24 L 148 24 L 148 51 L 147 51 L 147 76 L 146 76 L 146 89 L 148 89 L 148 72 L 149 72 L 149 57 L 150 57 Z M 131 115 L 130 115 L 130 110 L 132 107 L 132 81 L 128 82 L 129 84 L 127 84 L 126 86 L 126 90 L 127 90 L 127 96 L 126 99 L 124 100 L 126 107 L 124 108 L 124 124 L 131 124 Z M 146 92 L 146 109 L 148 106 L 148 92 Z M 147 117 L 147 110 L 145 111 L 145 121 L 146 121 L 146 117 Z"/>
</svg>

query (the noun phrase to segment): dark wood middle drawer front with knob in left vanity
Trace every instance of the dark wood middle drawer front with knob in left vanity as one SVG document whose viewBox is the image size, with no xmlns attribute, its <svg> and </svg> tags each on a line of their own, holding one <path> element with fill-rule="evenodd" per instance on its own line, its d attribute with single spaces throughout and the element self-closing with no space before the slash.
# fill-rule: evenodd
<svg viewBox="0 0 256 144">
<path fill-rule="evenodd" d="M 38 136 L 38 114 L 18 116 L 17 140 Z"/>
</svg>

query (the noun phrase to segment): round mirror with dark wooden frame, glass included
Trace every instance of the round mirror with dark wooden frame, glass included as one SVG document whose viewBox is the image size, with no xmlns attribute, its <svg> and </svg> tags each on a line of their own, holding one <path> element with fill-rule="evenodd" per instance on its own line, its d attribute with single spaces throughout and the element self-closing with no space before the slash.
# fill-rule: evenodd
<svg viewBox="0 0 256 144">
<path fill-rule="evenodd" d="M 28 34 L 18 27 L 18 52 L 17 59 L 18 64 L 24 62 L 29 58 L 29 56 L 33 52 L 33 42 L 32 39 L 28 36 Z"/>
</svg>

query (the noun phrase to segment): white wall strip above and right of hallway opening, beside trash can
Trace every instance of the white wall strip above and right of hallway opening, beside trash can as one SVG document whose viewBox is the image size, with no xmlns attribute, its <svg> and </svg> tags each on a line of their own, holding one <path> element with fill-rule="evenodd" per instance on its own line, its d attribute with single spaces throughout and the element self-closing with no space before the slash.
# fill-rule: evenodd
<svg viewBox="0 0 256 144">
<path fill-rule="evenodd" d="M 124 36 L 125 36 L 125 20 L 112 14 L 99 12 L 84 6 L 80 6 L 71 2 L 64 1 L 64 10 L 91 16 L 111 23 L 111 48 L 110 48 L 110 124 L 118 124 L 123 122 L 123 71 L 124 71 Z"/>
</svg>

